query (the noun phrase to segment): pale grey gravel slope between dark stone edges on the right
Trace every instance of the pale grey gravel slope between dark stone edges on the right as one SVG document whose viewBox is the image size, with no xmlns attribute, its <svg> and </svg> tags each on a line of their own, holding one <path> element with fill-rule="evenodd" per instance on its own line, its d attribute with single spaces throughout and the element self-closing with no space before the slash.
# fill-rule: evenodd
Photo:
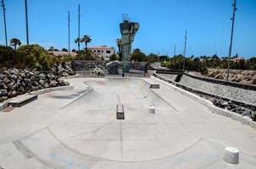
<svg viewBox="0 0 256 169">
<path fill-rule="evenodd" d="M 171 75 L 171 74 L 166 74 L 166 75 Z M 241 88 L 232 87 L 228 85 L 213 84 L 213 83 L 202 81 L 199 79 L 192 79 L 191 77 L 186 75 L 182 76 L 179 84 L 186 85 L 196 90 L 209 92 L 214 95 L 220 95 L 222 97 L 225 97 L 231 100 L 242 101 L 248 104 L 256 105 L 255 90 L 244 90 Z"/>
</svg>

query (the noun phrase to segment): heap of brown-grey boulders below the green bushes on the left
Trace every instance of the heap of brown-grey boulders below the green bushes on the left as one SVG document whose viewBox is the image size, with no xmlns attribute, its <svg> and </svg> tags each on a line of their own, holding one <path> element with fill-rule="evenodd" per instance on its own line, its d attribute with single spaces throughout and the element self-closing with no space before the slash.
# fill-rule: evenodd
<svg viewBox="0 0 256 169">
<path fill-rule="evenodd" d="M 73 70 L 67 65 L 52 68 L 47 73 L 29 69 L 3 68 L 0 70 L 0 102 L 34 90 L 69 85 L 59 78 L 73 74 Z"/>
</svg>

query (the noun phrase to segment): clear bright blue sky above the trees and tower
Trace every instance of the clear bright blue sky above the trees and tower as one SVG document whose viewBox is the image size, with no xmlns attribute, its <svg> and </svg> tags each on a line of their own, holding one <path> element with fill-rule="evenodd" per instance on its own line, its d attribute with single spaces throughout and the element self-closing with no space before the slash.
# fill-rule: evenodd
<svg viewBox="0 0 256 169">
<path fill-rule="evenodd" d="M 28 0 L 31 43 L 48 48 L 68 47 L 70 10 L 71 49 L 77 48 L 77 8 L 81 3 L 81 35 L 91 35 L 89 46 L 114 46 L 122 14 L 141 24 L 133 48 L 147 54 L 182 53 L 187 30 L 187 56 L 228 54 L 233 0 Z M 25 43 L 24 0 L 5 0 L 8 39 Z M 237 0 L 233 55 L 256 56 L 256 0 Z M 0 43 L 4 45 L 3 10 Z"/>
</svg>

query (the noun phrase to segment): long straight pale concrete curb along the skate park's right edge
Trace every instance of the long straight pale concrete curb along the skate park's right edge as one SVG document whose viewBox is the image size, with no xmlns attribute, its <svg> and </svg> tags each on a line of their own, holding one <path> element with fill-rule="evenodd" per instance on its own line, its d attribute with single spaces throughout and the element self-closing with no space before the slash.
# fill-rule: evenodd
<svg viewBox="0 0 256 169">
<path fill-rule="evenodd" d="M 207 108 L 209 108 L 209 110 L 213 113 L 220 114 L 225 117 L 231 117 L 233 120 L 237 120 L 237 121 L 241 122 L 242 124 L 246 124 L 246 125 L 256 129 L 256 123 L 253 122 L 253 120 L 248 117 L 242 117 L 241 115 L 239 115 L 235 112 L 231 112 L 231 111 L 228 111 L 225 109 L 221 109 L 220 107 L 214 106 L 214 104 L 211 101 L 208 101 L 208 100 L 206 100 L 198 95 L 195 95 L 189 91 L 182 90 L 181 88 L 176 87 L 175 85 L 171 85 L 171 84 L 165 82 L 164 80 L 155 78 L 153 76 L 151 78 L 162 82 L 164 85 L 170 86 L 170 88 L 172 88 L 173 90 L 178 91 L 182 95 L 186 95 L 187 97 L 191 98 L 194 101 L 198 101 L 203 106 L 206 106 Z"/>
</svg>

